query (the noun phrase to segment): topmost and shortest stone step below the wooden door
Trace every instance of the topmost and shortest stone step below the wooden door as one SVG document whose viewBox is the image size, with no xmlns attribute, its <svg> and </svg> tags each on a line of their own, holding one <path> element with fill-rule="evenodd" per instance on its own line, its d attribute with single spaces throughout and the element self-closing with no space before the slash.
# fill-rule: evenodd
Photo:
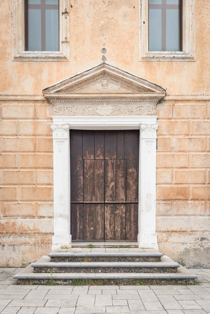
<svg viewBox="0 0 210 314">
<path fill-rule="evenodd" d="M 162 253 L 156 249 L 139 248 L 71 248 L 55 249 L 51 262 L 160 262 Z"/>
</svg>

